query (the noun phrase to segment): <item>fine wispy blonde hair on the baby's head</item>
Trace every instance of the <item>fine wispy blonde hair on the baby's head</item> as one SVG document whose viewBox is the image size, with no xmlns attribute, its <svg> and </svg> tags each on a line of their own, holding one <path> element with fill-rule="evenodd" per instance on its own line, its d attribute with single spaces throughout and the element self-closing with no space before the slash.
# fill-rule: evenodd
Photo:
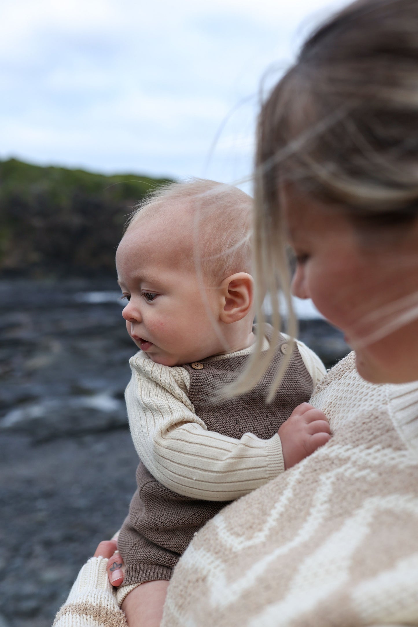
<svg viewBox="0 0 418 627">
<path fill-rule="evenodd" d="M 219 283 L 236 272 L 251 272 L 253 199 L 238 187 L 197 178 L 169 183 L 138 204 L 125 230 L 145 216 L 169 218 L 179 204 L 190 221 L 197 273 Z"/>
</svg>

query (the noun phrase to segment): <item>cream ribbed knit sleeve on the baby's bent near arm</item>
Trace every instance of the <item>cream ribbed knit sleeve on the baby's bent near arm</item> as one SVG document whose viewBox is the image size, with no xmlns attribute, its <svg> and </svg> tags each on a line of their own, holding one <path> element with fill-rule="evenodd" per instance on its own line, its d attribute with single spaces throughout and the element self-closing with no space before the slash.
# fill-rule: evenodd
<svg viewBox="0 0 418 627">
<path fill-rule="evenodd" d="M 140 460 L 165 487 L 186 497 L 229 501 L 252 492 L 285 469 L 280 437 L 240 440 L 208 431 L 187 396 L 184 369 L 137 354 L 125 392 Z"/>
</svg>

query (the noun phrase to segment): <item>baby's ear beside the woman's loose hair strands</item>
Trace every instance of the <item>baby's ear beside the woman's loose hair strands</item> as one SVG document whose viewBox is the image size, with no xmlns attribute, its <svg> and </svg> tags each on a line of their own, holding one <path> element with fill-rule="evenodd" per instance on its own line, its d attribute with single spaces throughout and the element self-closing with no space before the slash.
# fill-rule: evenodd
<svg viewBox="0 0 418 627">
<path fill-rule="evenodd" d="M 253 308 L 254 280 L 246 272 L 237 272 L 221 283 L 221 320 L 226 324 L 242 320 Z"/>
</svg>

